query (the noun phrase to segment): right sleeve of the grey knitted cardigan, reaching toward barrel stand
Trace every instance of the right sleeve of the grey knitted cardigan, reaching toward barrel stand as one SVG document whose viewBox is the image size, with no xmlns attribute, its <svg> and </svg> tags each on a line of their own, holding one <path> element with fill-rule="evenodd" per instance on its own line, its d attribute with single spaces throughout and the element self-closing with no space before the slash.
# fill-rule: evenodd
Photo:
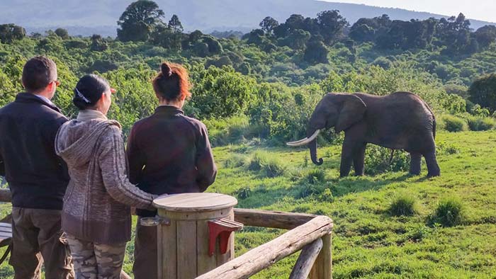
<svg viewBox="0 0 496 279">
<path fill-rule="evenodd" d="M 103 138 L 102 150 L 98 158 L 103 184 L 108 194 L 125 205 L 154 210 L 152 206 L 154 195 L 140 190 L 128 180 L 127 161 L 120 129 L 111 126 L 108 130 L 111 132 Z"/>
</svg>

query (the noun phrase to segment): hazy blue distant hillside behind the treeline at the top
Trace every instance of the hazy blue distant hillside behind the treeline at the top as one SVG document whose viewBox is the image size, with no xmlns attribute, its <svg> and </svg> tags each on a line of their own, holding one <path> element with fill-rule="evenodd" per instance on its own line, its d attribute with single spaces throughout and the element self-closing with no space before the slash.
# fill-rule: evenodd
<svg viewBox="0 0 496 279">
<path fill-rule="evenodd" d="M 122 0 L 9 0 L 0 1 L 0 23 L 16 23 L 39 32 L 58 27 L 67 28 L 71 35 L 115 36 L 117 21 L 131 3 Z M 285 21 L 293 13 L 315 17 L 318 12 L 337 9 L 352 24 L 359 18 L 371 18 L 386 13 L 392 19 L 410 20 L 447 17 L 434 13 L 407 11 L 401 8 L 380 8 L 359 4 L 333 3 L 315 0 L 156 0 L 168 21 L 177 14 L 185 30 L 240 30 L 257 28 L 265 16 Z M 35 12 L 33 12 L 35 11 Z M 461 11 L 463 12 L 463 11 Z M 456 16 L 456 15 L 448 15 Z M 470 20 L 477 29 L 488 23 Z"/>
</svg>

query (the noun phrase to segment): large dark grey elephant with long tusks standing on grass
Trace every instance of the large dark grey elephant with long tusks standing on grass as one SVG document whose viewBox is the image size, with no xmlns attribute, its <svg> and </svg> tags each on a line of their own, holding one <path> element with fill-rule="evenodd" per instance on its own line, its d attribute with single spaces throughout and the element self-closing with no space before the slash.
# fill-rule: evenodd
<svg viewBox="0 0 496 279">
<path fill-rule="evenodd" d="M 420 174 L 422 156 L 427 163 L 427 176 L 439 176 L 436 161 L 436 118 L 431 108 L 419 96 L 410 92 L 395 92 L 387 96 L 367 93 L 327 93 L 312 113 L 307 125 L 307 137 L 289 146 L 308 144 L 310 157 L 316 165 L 317 135 L 322 129 L 334 127 L 344 131 L 340 177 L 348 176 L 351 164 L 355 175 L 363 176 L 366 144 L 410 153 L 410 173 Z"/>
</svg>

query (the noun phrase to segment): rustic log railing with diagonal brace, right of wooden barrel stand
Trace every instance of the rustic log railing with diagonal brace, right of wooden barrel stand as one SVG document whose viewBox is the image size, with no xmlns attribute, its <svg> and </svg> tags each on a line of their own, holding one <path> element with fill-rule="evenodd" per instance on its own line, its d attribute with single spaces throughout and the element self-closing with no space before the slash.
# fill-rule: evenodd
<svg viewBox="0 0 496 279">
<path fill-rule="evenodd" d="M 0 202 L 11 202 L 9 190 L 0 190 Z M 300 250 L 290 279 L 332 278 L 333 223 L 329 217 L 235 208 L 235 220 L 245 226 L 290 230 L 197 279 L 249 278 Z"/>
</svg>

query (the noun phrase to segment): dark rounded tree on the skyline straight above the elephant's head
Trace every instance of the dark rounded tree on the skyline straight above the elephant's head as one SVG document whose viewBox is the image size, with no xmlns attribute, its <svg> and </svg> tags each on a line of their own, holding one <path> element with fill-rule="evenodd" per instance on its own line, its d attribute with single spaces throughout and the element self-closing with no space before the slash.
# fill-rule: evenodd
<svg viewBox="0 0 496 279">
<path fill-rule="evenodd" d="M 338 10 L 321 11 L 317 14 L 317 25 L 324 42 L 330 44 L 343 35 L 345 27 L 349 26 Z"/>
</svg>

